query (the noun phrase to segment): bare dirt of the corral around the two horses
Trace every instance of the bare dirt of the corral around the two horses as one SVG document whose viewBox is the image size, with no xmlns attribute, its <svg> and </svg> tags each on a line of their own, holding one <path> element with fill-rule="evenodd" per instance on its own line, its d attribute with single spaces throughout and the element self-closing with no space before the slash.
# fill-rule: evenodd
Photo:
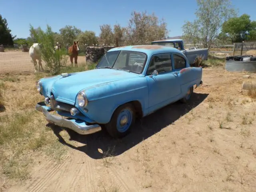
<svg viewBox="0 0 256 192">
<path fill-rule="evenodd" d="M 78 56 L 78 66 L 85 64 L 85 56 Z M 38 60 L 37 60 L 38 63 Z M 68 65 L 71 65 L 68 59 Z M 73 59 L 74 65 L 74 59 Z M 44 68 L 45 62 L 42 61 Z M 35 71 L 34 64 L 28 52 L 21 52 L 20 50 L 12 50 L 0 52 L 0 74 L 12 73 L 31 73 Z"/>
</svg>

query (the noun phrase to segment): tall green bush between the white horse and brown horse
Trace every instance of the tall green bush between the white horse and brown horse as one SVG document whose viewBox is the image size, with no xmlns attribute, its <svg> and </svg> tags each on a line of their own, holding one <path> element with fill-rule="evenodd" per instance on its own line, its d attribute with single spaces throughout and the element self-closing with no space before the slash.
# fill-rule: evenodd
<svg viewBox="0 0 256 192">
<path fill-rule="evenodd" d="M 56 75 L 60 72 L 61 67 L 66 66 L 68 58 L 65 48 L 62 50 L 54 51 L 54 32 L 52 28 L 47 25 L 44 32 L 40 27 L 34 28 L 30 25 L 30 32 L 40 45 L 40 52 L 42 60 L 46 62 L 46 69 L 49 69 L 52 75 Z"/>
</svg>

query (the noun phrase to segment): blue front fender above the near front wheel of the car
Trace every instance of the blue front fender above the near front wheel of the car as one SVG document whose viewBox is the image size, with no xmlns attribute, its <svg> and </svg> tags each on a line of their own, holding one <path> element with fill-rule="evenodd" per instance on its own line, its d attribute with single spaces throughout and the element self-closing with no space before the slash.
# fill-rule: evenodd
<svg viewBox="0 0 256 192">
<path fill-rule="evenodd" d="M 140 102 L 142 116 L 148 108 L 148 85 L 144 77 L 104 83 L 84 92 L 88 98 L 88 112 L 84 115 L 100 124 L 108 123 L 116 108 L 127 102 Z"/>
</svg>

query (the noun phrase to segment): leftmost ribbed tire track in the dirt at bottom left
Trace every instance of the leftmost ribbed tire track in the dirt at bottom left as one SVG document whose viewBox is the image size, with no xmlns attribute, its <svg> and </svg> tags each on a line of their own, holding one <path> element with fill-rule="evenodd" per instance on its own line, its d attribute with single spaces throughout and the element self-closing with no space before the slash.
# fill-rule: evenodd
<svg viewBox="0 0 256 192">
<path fill-rule="evenodd" d="M 67 156 L 66 159 L 68 159 L 69 156 Z M 43 188 L 48 181 L 55 175 L 58 173 L 58 171 L 64 166 L 64 165 L 68 165 L 66 159 L 64 159 L 62 161 L 62 163 L 54 166 L 52 169 L 50 169 L 43 177 L 37 178 L 34 180 L 34 182 L 32 182 L 32 184 L 30 184 L 30 186 L 28 186 L 28 188 L 26 188 L 26 192 L 28 192 L 28 190 L 30 189 L 29 192 L 38 192 L 41 188 Z M 39 180 L 39 181 L 38 181 Z M 33 184 L 37 182 L 34 186 Z"/>
</svg>

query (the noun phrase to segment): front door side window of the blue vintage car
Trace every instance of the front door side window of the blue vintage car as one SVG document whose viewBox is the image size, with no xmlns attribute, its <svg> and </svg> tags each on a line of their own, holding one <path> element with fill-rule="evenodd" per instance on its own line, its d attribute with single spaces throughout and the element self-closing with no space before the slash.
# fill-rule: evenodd
<svg viewBox="0 0 256 192">
<path fill-rule="evenodd" d="M 154 70 L 160 72 L 172 71 L 172 59 L 170 53 L 156 54 L 150 60 L 147 74 L 150 75 Z"/>
</svg>

